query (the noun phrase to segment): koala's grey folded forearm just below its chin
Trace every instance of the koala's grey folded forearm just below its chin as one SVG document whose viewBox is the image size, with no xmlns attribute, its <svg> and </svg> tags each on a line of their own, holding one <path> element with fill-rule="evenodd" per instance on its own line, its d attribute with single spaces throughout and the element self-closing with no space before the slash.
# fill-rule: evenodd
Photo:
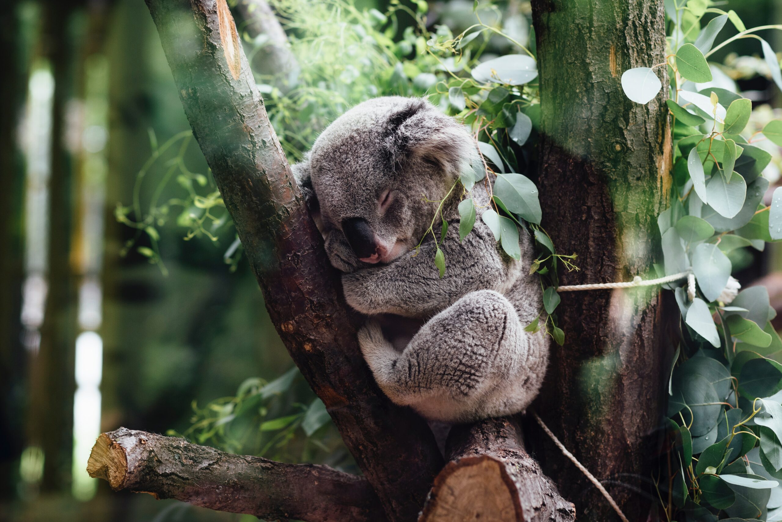
<svg viewBox="0 0 782 522">
<path fill-rule="evenodd" d="M 434 263 L 435 243 L 427 241 L 417 256 L 410 252 L 388 265 L 344 274 L 346 301 L 367 315 L 429 316 L 470 291 L 488 289 L 502 293 L 519 270 L 518 262 L 500 254 L 497 241 L 480 218 L 461 243 L 458 222 L 449 223 L 440 249 L 446 264 L 442 279 Z"/>
</svg>

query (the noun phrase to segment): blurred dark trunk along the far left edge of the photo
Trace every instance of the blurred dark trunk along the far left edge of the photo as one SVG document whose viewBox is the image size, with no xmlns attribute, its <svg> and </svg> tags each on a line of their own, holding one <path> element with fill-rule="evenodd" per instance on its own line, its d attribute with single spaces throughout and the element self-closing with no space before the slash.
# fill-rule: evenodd
<svg viewBox="0 0 782 522">
<path fill-rule="evenodd" d="M 23 447 L 24 349 L 21 342 L 23 281 L 23 157 L 16 129 L 27 87 L 27 63 L 19 2 L 0 10 L 0 499 L 16 493 Z"/>
</svg>

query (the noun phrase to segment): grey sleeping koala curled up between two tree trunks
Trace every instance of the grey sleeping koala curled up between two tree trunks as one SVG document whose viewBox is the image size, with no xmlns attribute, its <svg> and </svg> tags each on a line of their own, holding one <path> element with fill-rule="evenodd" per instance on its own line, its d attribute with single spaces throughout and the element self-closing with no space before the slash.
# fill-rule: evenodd
<svg viewBox="0 0 782 522">
<path fill-rule="evenodd" d="M 522 411 L 548 361 L 543 332 L 524 331 L 541 308 L 540 282 L 527 274 L 528 234 L 521 261 L 501 251 L 480 217 L 460 242 L 458 184 L 443 205 L 445 276 L 432 234 L 413 255 L 432 223 L 432 200 L 480 161 L 466 127 L 425 100 L 393 96 L 340 116 L 293 167 L 328 257 L 344 272 L 346 301 L 368 316 L 358 341 L 375 380 L 429 420 Z M 481 182 L 472 198 L 479 214 L 489 208 Z"/>
</svg>

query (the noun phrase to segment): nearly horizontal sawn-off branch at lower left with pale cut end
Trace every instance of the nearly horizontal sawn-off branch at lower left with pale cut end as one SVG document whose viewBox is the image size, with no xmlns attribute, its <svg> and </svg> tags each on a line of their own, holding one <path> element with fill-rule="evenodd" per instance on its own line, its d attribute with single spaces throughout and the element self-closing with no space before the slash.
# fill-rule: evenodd
<svg viewBox="0 0 782 522">
<path fill-rule="evenodd" d="M 364 478 L 326 466 L 232 455 L 124 427 L 99 436 L 87 471 L 109 481 L 114 491 L 130 489 L 267 520 L 386 520 Z"/>
</svg>

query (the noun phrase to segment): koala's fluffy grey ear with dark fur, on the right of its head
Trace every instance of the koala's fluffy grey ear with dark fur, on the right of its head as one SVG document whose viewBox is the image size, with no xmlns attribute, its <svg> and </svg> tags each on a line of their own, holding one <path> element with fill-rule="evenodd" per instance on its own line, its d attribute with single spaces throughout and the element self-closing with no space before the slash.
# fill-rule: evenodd
<svg viewBox="0 0 782 522">
<path fill-rule="evenodd" d="M 413 159 L 436 165 L 449 177 L 458 176 L 476 154 L 467 128 L 420 98 L 411 98 L 407 106 L 389 116 L 384 134 L 395 166 Z"/>
</svg>

